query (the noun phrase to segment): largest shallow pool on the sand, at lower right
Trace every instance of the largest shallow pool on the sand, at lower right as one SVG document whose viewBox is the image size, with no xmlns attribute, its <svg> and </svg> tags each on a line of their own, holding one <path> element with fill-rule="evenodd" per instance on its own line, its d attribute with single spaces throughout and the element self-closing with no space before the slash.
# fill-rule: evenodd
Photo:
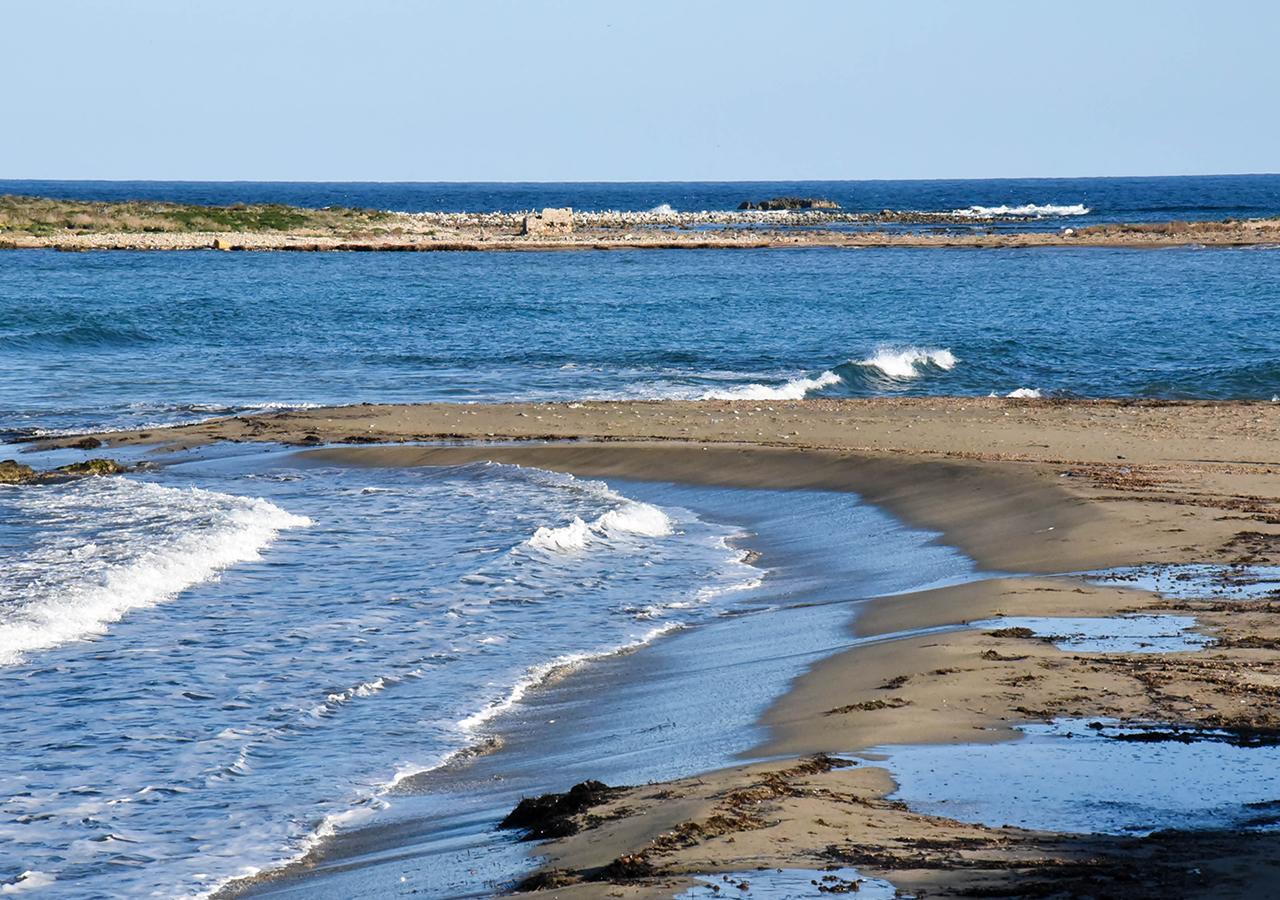
<svg viewBox="0 0 1280 900">
<path fill-rule="evenodd" d="M 1057 719 L 1021 740 L 881 748 L 893 799 L 991 827 L 1146 835 L 1263 822 L 1280 800 L 1280 748 L 1125 741 L 1139 726 Z M 1211 736 L 1212 737 L 1212 736 Z M 1266 827 L 1270 827 L 1268 824 Z"/>
</svg>

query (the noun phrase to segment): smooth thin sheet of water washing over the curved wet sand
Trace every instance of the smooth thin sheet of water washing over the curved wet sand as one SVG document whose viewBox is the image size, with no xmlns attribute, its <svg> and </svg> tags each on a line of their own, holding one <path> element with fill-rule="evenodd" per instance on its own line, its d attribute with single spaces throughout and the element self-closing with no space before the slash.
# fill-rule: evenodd
<svg viewBox="0 0 1280 900">
<path fill-rule="evenodd" d="M 861 598 L 978 577 L 934 535 L 849 494 L 616 486 L 650 503 L 678 498 L 703 521 L 731 517 L 749 529 L 769 567 L 760 588 L 727 615 L 530 691 L 489 723 L 500 753 L 406 780 L 371 827 L 326 845 L 305 877 L 255 885 L 253 896 L 346 897 L 398 883 L 429 896 L 489 896 L 532 865 L 535 848 L 494 831 L 521 796 L 755 758 L 767 736 L 760 713 L 786 685 L 865 640 L 849 634 Z M 824 568 L 832 577 L 815 577 Z"/>
</svg>

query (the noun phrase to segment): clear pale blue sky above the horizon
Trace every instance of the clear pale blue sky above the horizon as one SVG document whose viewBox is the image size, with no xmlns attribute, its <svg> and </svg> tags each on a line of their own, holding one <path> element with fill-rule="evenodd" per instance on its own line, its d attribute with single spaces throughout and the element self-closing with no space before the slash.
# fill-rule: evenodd
<svg viewBox="0 0 1280 900">
<path fill-rule="evenodd" d="M 27 0 L 0 178 L 1280 170 L 1274 0 Z"/>
</svg>

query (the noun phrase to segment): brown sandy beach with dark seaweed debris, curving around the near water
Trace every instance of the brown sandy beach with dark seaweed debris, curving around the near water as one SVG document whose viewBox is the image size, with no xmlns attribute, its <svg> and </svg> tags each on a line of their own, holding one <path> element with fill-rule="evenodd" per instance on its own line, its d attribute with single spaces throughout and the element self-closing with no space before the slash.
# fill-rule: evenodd
<svg viewBox="0 0 1280 900">
<path fill-rule="evenodd" d="M 526 887 L 669 896 L 691 873 L 841 864 L 916 895 L 1265 896 L 1276 874 L 1271 832 L 1084 837 L 913 812 L 886 799 L 893 782 L 876 757 L 858 754 L 1004 741 L 1016 726 L 1059 718 L 1274 741 L 1274 598 L 1170 599 L 1062 574 L 1280 562 L 1280 405 L 349 406 L 45 446 L 102 442 L 95 453 L 110 454 L 123 444 L 216 440 L 326 444 L 305 456 L 329 465 L 493 460 L 596 478 L 854 492 L 941 533 L 983 568 L 1010 574 L 873 602 L 852 634 L 888 639 L 813 666 L 765 713 L 769 739 L 756 750 L 776 762 L 609 796 L 577 817 L 577 833 L 536 848 L 547 864 Z M 1120 613 L 1190 616 L 1213 643 L 1187 654 L 1079 653 L 1027 629 L 961 627 L 1002 616 Z M 305 878 L 305 867 L 288 877 Z"/>
</svg>

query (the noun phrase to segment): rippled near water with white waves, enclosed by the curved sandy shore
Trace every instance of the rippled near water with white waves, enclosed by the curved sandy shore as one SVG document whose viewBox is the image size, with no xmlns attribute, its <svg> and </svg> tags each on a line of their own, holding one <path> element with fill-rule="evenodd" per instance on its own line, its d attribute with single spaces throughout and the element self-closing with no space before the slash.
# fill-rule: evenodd
<svg viewBox="0 0 1280 900">
<path fill-rule="evenodd" d="M 731 545 L 744 529 L 788 559 L 767 589 Z M 835 552 L 814 540 L 836 533 Z M 531 685 L 672 629 L 689 630 L 655 658 L 690 647 L 682 677 L 754 659 L 750 679 L 684 709 L 658 673 L 625 685 L 626 721 L 645 709 L 657 734 L 607 717 L 559 750 L 544 736 L 506 789 L 724 764 L 785 684 L 847 641 L 838 606 L 796 611 L 763 654 L 755 620 L 972 576 L 849 494 L 608 486 L 492 463 L 339 470 L 271 449 L 4 489 L 0 535 L 0 751 L 31 760 L 0 773 L 0 873 L 108 895 L 198 894 L 334 830 L 422 814 L 398 786 L 540 709 L 513 705 Z M 677 639 L 703 627 L 723 655 Z M 618 677 L 608 658 L 594 668 Z M 472 844 L 492 844 L 493 810 Z M 511 877 L 522 860 L 494 846 L 494 877 Z M 433 860 L 460 885 L 472 868 Z"/>
</svg>

